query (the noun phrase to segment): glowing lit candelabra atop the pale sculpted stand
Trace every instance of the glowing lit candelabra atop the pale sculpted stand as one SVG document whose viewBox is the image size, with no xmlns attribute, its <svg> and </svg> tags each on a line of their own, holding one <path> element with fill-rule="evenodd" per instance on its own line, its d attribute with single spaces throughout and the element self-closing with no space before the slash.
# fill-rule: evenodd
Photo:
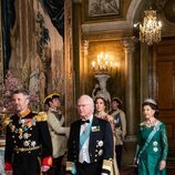
<svg viewBox="0 0 175 175">
<path fill-rule="evenodd" d="M 97 54 L 96 60 L 91 62 L 92 71 L 96 74 L 109 74 L 115 66 L 119 66 L 119 62 L 114 61 L 112 54 L 101 52 Z"/>
</svg>

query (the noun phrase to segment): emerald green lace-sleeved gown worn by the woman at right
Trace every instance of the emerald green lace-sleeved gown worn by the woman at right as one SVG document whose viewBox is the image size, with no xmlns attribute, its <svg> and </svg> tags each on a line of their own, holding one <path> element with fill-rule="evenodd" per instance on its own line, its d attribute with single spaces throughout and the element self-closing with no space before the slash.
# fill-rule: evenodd
<svg viewBox="0 0 175 175">
<path fill-rule="evenodd" d="M 144 143 L 150 133 L 155 126 L 147 127 L 144 123 L 140 125 L 138 144 L 136 150 L 136 157 L 138 156 Z M 165 124 L 159 123 L 157 132 L 143 151 L 137 163 L 138 175 L 166 175 L 166 168 L 159 171 L 159 162 L 166 161 L 168 152 L 167 136 Z"/>
</svg>

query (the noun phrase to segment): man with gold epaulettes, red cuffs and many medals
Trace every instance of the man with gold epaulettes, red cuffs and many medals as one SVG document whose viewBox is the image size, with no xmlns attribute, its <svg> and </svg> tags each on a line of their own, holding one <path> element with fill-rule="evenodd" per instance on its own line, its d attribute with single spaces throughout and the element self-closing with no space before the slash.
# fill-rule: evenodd
<svg viewBox="0 0 175 175">
<path fill-rule="evenodd" d="M 44 112 L 29 110 L 27 90 L 16 90 L 12 101 L 17 114 L 4 121 L 6 174 L 40 175 L 52 166 L 52 143 Z"/>
</svg>

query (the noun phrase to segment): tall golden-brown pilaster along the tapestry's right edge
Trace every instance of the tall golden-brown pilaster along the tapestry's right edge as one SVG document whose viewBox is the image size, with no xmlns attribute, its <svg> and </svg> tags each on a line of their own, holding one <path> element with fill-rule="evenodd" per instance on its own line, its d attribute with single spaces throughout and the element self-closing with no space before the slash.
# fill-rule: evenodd
<svg viewBox="0 0 175 175">
<path fill-rule="evenodd" d="M 72 1 L 64 0 L 64 115 L 65 125 L 70 125 L 75 115 L 74 109 L 74 72 L 73 72 L 73 40 L 72 40 Z"/>
</svg>

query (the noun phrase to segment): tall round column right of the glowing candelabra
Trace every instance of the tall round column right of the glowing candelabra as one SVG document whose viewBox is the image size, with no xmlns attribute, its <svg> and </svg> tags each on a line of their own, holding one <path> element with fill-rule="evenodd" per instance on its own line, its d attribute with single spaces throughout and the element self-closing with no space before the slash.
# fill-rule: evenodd
<svg viewBox="0 0 175 175">
<path fill-rule="evenodd" d="M 134 44 L 131 39 L 122 41 L 125 52 L 125 112 L 127 123 L 126 141 L 136 141 L 135 119 L 135 87 L 134 87 Z"/>
</svg>

